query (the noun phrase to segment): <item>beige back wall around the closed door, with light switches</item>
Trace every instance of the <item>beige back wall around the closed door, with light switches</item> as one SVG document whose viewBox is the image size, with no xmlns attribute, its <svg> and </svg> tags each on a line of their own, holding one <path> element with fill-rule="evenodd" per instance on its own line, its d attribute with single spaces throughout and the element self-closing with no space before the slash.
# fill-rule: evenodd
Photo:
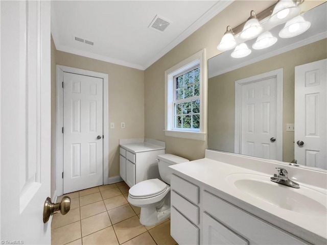
<svg viewBox="0 0 327 245">
<path fill-rule="evenodd" d="M 109 177 L 119 176 L 119 139 L 144 137 L 144 71 L 61 51 L 56 64 L 109 75 Z"/>
</svg>

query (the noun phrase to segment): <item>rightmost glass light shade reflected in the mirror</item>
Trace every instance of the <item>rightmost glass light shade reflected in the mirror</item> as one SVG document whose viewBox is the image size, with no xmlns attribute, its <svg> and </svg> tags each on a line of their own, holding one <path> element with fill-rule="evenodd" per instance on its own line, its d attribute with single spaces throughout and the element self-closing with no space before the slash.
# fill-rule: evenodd
<svg viewBox="0 0 327 245">
<path fill-rule="evenodd" d="M 302 16 L 296 16 L 295 18 L 286 22 L 285 27 L 279 32 L 279 37 L 290 38 L 302 34 L 307 31 L 311 26 L 309 21 L 306 21 Z"/>
</svg>

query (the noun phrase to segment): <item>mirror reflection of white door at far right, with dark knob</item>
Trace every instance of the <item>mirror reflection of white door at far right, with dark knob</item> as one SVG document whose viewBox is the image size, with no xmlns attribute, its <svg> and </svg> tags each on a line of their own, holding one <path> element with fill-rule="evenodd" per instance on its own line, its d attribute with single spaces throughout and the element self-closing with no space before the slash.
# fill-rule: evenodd
<svg viewBox="0 0 327 245">
<path fill-rule="evenodd" d="M 326 59 L 295 67 L 295 159 L 323 169 L 327 169 L 326 69 Z"/>
</svg>

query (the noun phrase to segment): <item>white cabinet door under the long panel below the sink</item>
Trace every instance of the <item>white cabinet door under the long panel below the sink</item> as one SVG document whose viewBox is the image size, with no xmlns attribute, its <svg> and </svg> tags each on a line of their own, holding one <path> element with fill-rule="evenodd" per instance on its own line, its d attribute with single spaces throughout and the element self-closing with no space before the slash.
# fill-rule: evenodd
<svg viewBox="0 0 327 245">
<path fill-rule="evenodd" d="M 248 245 L 249 242 L 239 234 L 228 229 L 211 216 L 203 213 L 203 244 L 239 244 Z"/>
</svg>

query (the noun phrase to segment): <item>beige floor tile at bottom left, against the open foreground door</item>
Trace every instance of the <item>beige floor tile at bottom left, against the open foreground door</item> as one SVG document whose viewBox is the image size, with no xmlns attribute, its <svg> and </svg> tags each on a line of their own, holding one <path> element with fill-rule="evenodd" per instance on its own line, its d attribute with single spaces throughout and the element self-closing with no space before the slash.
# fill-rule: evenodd
<svg viewBox="0 0 327 245">
<path fill-rule="evenodd" d="M 75 222 L 51 231 L 51 244 L 66 244 L 81 238 L 81 222 Z"/>
</svg>

